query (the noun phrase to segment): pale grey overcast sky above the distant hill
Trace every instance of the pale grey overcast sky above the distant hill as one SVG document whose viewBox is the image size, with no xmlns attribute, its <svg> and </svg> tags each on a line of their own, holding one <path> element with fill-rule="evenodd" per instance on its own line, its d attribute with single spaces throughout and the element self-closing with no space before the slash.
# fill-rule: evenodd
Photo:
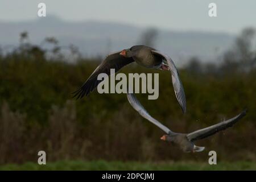
<svg viewBox="0 0 256 182">
<path fill-rule="evenodd" d="M 37 19 L 40 2 L 46 3 L 47 16 L 56 15 L 67 21 L 98 20 L 165 30 L 230 34 L 238 34 L 244 27 L 256 27 L 255 0 L 1 0 L 0 21 Z M 208 15 L 211 2 L 217 5 L 217 17 Z"/>
</svg>

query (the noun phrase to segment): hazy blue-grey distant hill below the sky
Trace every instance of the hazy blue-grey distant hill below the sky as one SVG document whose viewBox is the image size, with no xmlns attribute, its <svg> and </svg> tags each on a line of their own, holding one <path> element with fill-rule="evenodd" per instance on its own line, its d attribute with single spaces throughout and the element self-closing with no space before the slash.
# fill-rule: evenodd
<svg viewBox="0 0 256 182">
<path fill-rule="evenodd" d="M 0 30 L 1 46 L 18 44 L 20 32 L 28 31 L 32 43 L 54 36 L 63 46 L 74 44 L 83 55 L 97 56 L 139 44 L 146 29 L 113 22 L 65 22 L 47 16 L 27 22 L 0 22 Z M 179 63 L 191 56 L 209 61 L 229 48 L 233 40 L 234 36 L 225 33 L 158 30 L 155 47 Z"/>
</svg>

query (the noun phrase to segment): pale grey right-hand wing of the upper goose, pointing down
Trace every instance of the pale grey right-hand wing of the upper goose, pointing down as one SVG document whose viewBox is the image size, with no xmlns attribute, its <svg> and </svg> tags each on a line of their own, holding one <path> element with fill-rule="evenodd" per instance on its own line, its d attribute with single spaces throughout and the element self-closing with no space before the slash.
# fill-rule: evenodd
<svg viewBox="0 0 256 182">
<path fill-rule="evenodd" d="M 172 75 L 172 85 L 174 85 L 175 96 L 181 106 L 183 113 L 185 113 L 186 107 L 187 107 L 185 92 L 184 92 L 184 88 L 183 88 L 182 82 L 179 77 L 179 72 L 177 71 L 177 68 L 175 67 L 174 61 L 172 61 L 171 57 L 165 55 L 164 53 L 161 53 L 160 51 L 152 51 L 152 52 L 156 53 L 157 55 L 162 56 L 163 59 L 165 59 L 167 61 L 168 66 L 171 71 L 171 75 Z"/>
</svg>

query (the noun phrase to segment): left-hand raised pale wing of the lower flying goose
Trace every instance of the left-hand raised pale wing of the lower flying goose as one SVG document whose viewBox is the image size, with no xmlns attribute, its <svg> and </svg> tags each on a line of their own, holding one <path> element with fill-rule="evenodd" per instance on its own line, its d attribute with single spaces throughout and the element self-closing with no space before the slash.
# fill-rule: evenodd
<svg viewBox="0 0 256 182">
<path fill-rule="evenodd" d="M 133 108 L 135 110 L 137 110 L 138 113 L 141 114 L 143 118 L 147 119 L 148 121 L 150 121 L 154 125 L 158 126 L 165 133 L 167 133 L 167 134 L 174 134 L 174 132 L 172 132 L 170 129 L 168 129 L 168 127 L 162 125 L 162 123 L 157 121 L 155 118 L 151 117 L 151 115 L 148 114 L 147 110 L 144 109 L 144 107 L 137 100 L 137 97 L 133 93 L 127 93 L 127 98 L 128 98 L 129 103 L 131 104 L 131 106 L 133 106 Z"/>
</svg>

